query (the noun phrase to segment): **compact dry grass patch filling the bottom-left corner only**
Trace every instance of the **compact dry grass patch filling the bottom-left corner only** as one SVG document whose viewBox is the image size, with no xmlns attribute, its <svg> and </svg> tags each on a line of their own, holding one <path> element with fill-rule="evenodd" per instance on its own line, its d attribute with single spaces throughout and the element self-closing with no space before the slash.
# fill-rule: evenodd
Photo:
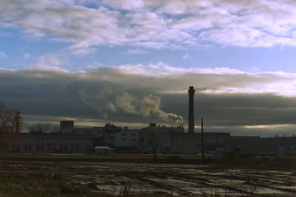
<svg viewBox="0 0 296 197">
<path fill-rule="evenodd" d="M 72 186 L 57 174 L 1 173 L 0 176 L 0 197 L 87 197 L 91 195 L 87 186 Z"/>
</svg>

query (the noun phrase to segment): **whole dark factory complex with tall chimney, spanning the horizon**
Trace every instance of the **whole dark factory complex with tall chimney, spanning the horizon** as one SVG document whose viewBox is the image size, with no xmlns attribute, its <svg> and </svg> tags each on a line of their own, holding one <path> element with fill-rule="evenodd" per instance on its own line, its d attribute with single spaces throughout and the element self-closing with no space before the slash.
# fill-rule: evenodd
<svg viewBox="0 0 296 197">
<path fill-rule="evenodd" d="M 59 133 L 20 132 L 21 116 L 16 115 L 16 131 L 1 134 L 1 151 L 20 153 L 113 154 L 151 152 L 151 142 L 161 154 L 214 154 L 238 152 L 287 155 L 296 151 L 296 137 L 239 137 L 229 132 L 194 131 L 194 94 L 189 87 L 188 132 L 183 123 L 166 127 L 150 123 L 146 128 L 129 129 L 107 123 L 104 127 L 74 127 L 74 121 L 60 121 Z M 203 140 L 202 140 L 203 139 Z"/>
</svg>

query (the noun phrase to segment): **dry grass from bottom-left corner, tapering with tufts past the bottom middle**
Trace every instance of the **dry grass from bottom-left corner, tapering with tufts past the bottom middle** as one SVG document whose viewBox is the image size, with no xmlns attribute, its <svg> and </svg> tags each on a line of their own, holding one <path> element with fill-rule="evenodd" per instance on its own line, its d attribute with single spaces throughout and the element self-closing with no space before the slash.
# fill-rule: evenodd
<svg viewBox="0 0 296 197">
<path fill-rule="evenodd" d="M 1 173 L 0 197 L 169 197 L 143 190 L 134 192 L 126 183 L 119 194 L 108 194 L 93 184 L 70 184 L 61 174 Z"/>
</svg>

